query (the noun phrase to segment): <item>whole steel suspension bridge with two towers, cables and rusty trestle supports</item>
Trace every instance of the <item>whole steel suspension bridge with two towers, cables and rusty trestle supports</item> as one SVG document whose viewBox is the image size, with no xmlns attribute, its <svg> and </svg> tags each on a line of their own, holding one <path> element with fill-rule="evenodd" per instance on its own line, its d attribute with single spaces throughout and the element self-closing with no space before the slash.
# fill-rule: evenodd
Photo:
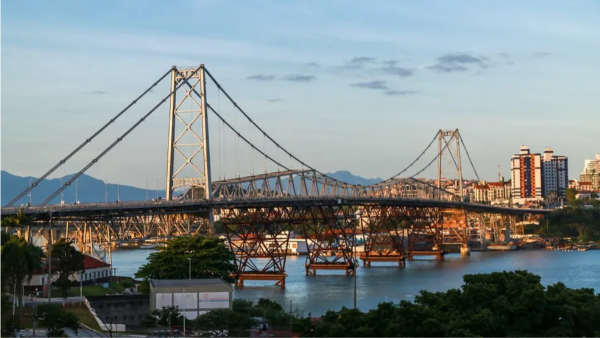
<svg viewBox="0 0 600 338">
<path fill-rule="evenodd" d="M 26 207 L 13 206 L 169 76 L 170 91 L 44 202 Z M 218 90 L 219 103 L 216 105 L 208 101 L 207 81 Z M 220 111 L 221 95 L 248 123 L 250 135 L 240 131 L 236 122 L 225 119 Z M 73 205 L 51 203 L 167 101 L 169 124 L 164 199 Z M 217 180 L 213 180 L 211 174 L 211 150 L 215 149 L 209 143 L 209 116 L 216 118 L 219 124 Z M 252 168 L 247 176 L 239 172 L 230 178 L 221 175 L 221 143 L 225 130 L 235 139 L 237 153 L 240 153 L 241 144 L 248 149 L 245 154 L 255 154 L 256 158 L 264 160 L 264 173 L 254 174 Z M 255 131 L 254 139 L 252 130 Z M 437 149 L 433 146 L 436 143 Z M 435 156 L 409 176 L 407 172 L 430 149 L 436 150 Z M 463 186 L 461 158 L 464 155 L 479 179 L 459 130 L 439 130 L 414 161 L 389 179 L 371 185 L 343 182 L 310 166 L 275 141 L 204 65 L 196 68 L 173 66 L 7 203 L 2 208 L 2 217 L 25 215 L 30 220 L 26 229 L 17 230 L 24 232 L 28 240 L 43 237 L 52 243 L 64 237 L 94 256 L 103 256 L 105 249 L 110 252 L 110 247 L 128 241 L 212 235 L 214 223 L 218 221 L 222 223 L 227 243 L 236 257 L 238 284 L 243 285 L 244 280 L 273 280 L 283 287 L 292 232 L 301 233 L 307 241 L 307 275 L 314 275 L 317 270 L 342 270 L 352 275 L 359 257 L 357 236 L 365 239 L 359 257 L 365 266 L 374 262 L 397 262 L 403 266 L 406 259 L 418 255 L 443 259 L 448 245 L 467 246 L 474 238 L 485 243 L 487 234 L 498 234 L 501 229 L 519 232 L 519 225 L 549 212 L 469 202 Z M 291 164 L 284 163 L 282 157 L 289 158 Z M 277 170 L 269 171 L 268 164 L 276 166 Z M 431 166 L 437 166 L 437 179 L 433 182 L 419 179 L 418 176 Z M 235 167 L 238 167 L 237 162 Z M 444 180 L 448 175 L 455 179 Z"/>
</svg>

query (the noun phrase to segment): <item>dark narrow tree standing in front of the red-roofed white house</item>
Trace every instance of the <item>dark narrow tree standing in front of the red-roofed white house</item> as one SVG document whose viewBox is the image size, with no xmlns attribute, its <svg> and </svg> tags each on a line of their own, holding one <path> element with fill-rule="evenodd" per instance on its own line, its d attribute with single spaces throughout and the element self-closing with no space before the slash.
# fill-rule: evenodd
<svg viewBox="0 0 600 338">
<path fill-rule="evenodd" d="M 83 271 L 83 259 L 84 255 L 64 238 L 52 245 L 52 274 L 58 274 L 53 284 L 60 288 L 64 298 L 69 296 L 72 284 L 69 276 Z"/>
</svg>

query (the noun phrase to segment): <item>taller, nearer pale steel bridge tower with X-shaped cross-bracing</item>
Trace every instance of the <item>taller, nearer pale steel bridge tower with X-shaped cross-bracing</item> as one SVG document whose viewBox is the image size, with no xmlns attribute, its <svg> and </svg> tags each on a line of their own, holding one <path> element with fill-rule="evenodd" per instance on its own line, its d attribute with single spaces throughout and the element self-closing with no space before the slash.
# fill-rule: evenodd
<svg viewBox="0 0 600 338">
<path fill-rule="evenodd" d="M 188 78 L 189 81 L 186 80 Z M 180 84 L 183 85 L 177 90 Z M 210 148 L 204 65 L 200 65 L 197 72 L 196 68 L 178 69 L 173 66 L 171 92 L 165 198 L 167 201 L 173 199 L 176 188 L 189 187 L 190 197 L 210 200 Z M 178 99 L 177 92 L 182 95 L 181 99 Z M 194 160 L 200 157 L 202 163 L 195 163 Z"/>
</svg>

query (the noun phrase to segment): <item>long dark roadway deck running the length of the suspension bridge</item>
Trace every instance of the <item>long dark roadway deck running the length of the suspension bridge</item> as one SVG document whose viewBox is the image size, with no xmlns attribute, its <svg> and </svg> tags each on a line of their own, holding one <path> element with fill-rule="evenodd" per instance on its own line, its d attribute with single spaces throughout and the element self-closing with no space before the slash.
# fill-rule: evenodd
<svg viewBox="0 0 600 338">
<path fill-rule="evenodd" d="M 440 201 L 430 199 L 407 199 L 398 197 L 290 197 L 273 199 L 241 199 L 232 200 L 219 198 L 212 201 L 204 199 L 175 200 L 175 201 L 149 201 L 149 202 L 120 202 L 120 203 L 95 203 L 77 205 L 46 205 L 43 207 L 14 207 L 2 208 L 1 216 L 8 217 L 16 215 L 19 210 L 32 217 L 34 220 L 49 220 L 60 217 L 106 217 L 132 216 L 132 215 L 156 215 L 156 214 L 182 214 L 198 213 L 210 209 L 223 208 L 248 208 L 248 207 L 290 207 L 290 206 L 331 206 L 331 205 L 381 205 L 402 207 L 442 207 L 448 209 L 461 209 L 470 212 L 494 213 L 504 215 L 545 215 L 552 212 L 549 209 L 523 209 L 497 207 L 485 204 Z"/>
</svg>

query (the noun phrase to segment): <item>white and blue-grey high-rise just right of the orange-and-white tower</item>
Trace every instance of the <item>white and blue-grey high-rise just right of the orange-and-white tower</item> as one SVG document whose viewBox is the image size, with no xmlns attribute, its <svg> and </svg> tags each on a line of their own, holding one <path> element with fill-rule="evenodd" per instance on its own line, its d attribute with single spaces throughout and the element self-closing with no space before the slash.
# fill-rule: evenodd
<svg viewBox="0 0 600 338">
<path fill-rule="evenodd" d="M 552 148 L 546 148 L 542 158 L 542 182 L 542 196 L 555 191 L 557 197 L 565 197 L 569 187 L 569 159 L 554 155 Z"/>
</svg>

